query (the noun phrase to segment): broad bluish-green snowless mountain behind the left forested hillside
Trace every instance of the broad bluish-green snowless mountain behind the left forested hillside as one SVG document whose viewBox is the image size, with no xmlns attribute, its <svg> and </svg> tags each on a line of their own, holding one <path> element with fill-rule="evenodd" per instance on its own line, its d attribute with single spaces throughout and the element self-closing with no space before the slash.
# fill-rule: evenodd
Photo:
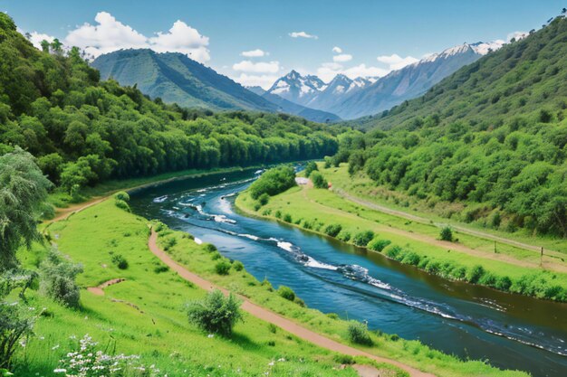
<svg viewBox="0 0 567 377">
<path fill-rule="evenodd" d="M 273 103 L 246 90 L 235 81 L 178 52 L 120 50 L 91 63 L 103 80 L 137 85 L 151 98 L 183 107 L 251 109 L 274 112 Z"/>
</svg>

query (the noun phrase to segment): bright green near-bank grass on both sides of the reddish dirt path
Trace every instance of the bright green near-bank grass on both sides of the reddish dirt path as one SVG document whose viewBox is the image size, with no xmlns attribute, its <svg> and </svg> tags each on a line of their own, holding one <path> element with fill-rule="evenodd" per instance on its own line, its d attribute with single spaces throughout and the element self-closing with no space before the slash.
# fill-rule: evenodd
<svg viewBox="0 0 567 377">
<path fill-rule="evenodd" d="M 235 327 L 231 339 L 208 337 L 189 325 L 183 307 L 187 300 L 204 297 L 205 292 L 164 269 L 148 250 L 148 221 L 117 208 L 108 200 L 53 223 L 49 234 L 59 249 L 85 272 L 78 278 L 83 288 L 95 287 L 113 278 L 126 280 L 104 289 L 96 296 L 82 289 L 82 306 L 67 309 L 35 292 L 28 293 L 30 305 L 46 307 L 31 338 L 17 354 L 16 372 L 39 372 L 52 376 L 57 360 L 76 346 L 74 337 L 91 335 L 102 346 L 110 344 L 118 353 L 140 354 L 145 363 L 156 363 L 168 376 L 271 375 L 354 376 L 351 368 L 340 370 L 349 358 L 337 356 L 303 342 L 283 330 L 253 316 Z M 159 244 L 187 269 L 219 286 L 227 287 L 285 317 L 348 344 L 347 322 L 324 315 L 280 297 L 268 283 L 261 283 L 245 270 L 231 265 L 228 275 L 218 275 L 216 264 L 224 260 L 207 245 L 197 245 L 186 233 L 160 231 Z M 36 246 L 23 250 L 19 258 L 35 267 L 46 250 Z M 119 269 L 112 256 L 120 254 L 128 269 Z M 374 346 L 367 352 L 394 358 L 438 376 L 524 376 L 523 372 L 503 372 L 482 362 L 461 362 L 453 356 L 429 349 L 417 341 L 372 334 Z M 278 362 L 278 360 L 285 362 Z M 360 363 L 369 363 L 359 361 Z M 274 365 L 271 365 L 274 363 Z M 396 369 L 385 365 L 391 375 Z M 186 372 L 187 371 L 187 372 Z M 390 375 L 388 374 L 388 375 Z M 399 375 L 403 375 L 398 373 Z"/>
</svg>

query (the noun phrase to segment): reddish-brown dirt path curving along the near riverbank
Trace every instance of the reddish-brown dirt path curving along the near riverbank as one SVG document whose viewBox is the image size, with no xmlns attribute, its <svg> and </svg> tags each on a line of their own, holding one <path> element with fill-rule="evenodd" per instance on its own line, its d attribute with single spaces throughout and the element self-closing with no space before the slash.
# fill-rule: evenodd
<svg viewBox="0 0 567 377">
<path fill-rule="evenodd" d="M 227 293 L 227 290 L 225 288 L 217 287 L 215 284 L 211 283 L 210 281 L 204 278 L 200 278 L 196 274 L 190 272 L 189 270 L 179 265 L 175 260 L 171 259 L 171 257 L 169 257 L 165 251 L 159 249 L 157 240 L 158 240 L 158 234 L 152 229 L 148 242 L 149 250 L 151 250 L 151 252 L 156 257 L 158 257 L 163 263 L 165 263 L 170 269 L 176 271 L 181 278 L 184 278 L 187 281 L 206 290 L 220 289 L 221 291 Z M 295 322 L 284 318 L 283 316 L 276 315 L 274 312 L 267 310 L 262 306 L 255 305 L 246 297 L 240 297 L 240 298 L 243 299 L 242 308 L 252 316 L 255 316 L 266 322 L 277 325 L 281 327 L 283 330 L 287 331 L 288 333 L 296 335 L 312 344 L 319 345 L 323 348 L 327 348 L 331 351 L 338 353 L 350 354 L 352 356 L 366 356 L 369 359 L 375 360 L 379 363 L 389 363 L 403 369 L 404 371 L 408 372 L 411 376 L 415 376 L 415 377 L 434 376 L 434 374 L 418 371 L 417 369 L 408 366 L 404 363 L 399 363 L 396 360 L 391 360 L 385 357 L 376 356 L 374 354 L 366 353 L 359 349 L 353 348 L 349 345 L 335 342 L 329 339 L 328 337 L 319 335 L 313 332 L 312 330 L 303 327 L 302 325 L 298 325 Z"/>
</svg>

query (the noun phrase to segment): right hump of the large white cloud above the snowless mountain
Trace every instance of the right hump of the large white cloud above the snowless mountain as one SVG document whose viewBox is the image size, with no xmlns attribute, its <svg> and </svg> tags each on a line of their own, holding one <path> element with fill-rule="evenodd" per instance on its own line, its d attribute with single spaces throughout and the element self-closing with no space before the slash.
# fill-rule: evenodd
<svg viewBox="0 0 567 377">
<path fill-rule="evenodd" d="M 196 61 L 209 61 L 211 59 L 207 46 L 208 37 L 201 35 L 197 29 L 176 21 L 168 33 L 156 33 L 149 38 L 149 48 L 155 52 L 181 52 Z"/>
</svg>

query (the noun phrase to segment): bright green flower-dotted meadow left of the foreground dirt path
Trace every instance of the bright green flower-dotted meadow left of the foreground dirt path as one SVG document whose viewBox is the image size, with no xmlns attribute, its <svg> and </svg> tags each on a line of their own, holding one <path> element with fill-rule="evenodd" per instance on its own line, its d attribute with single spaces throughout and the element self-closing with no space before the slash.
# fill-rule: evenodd
<svg viewBox="0 0 567 377">
<path fill-rule="evenodd" d="M 245 315 L 231 338 L 210 337 L 190 325 L 184 306 L 205 296 L 205 291 L 187 284 L 169 271 L 148 250 L 149 221 L 120 210 L 112 200 L 73 214 L 49 226 L 59 250 L 81 262 L 81 307 L 59 306 L 34 291 L 28 291 L 29 306 L 45 307 L 31 337 L 16 355 L 16 375 L 53 376 L 63 354 L 77 347 L 77 339 L 89 334 L 101 348 L 116 353 L 134 353 L 143 363 L 156 364 L 172 376 L 357 375 L 351 368 L 340 370 L 343 358 L 308 344 L 281 329 Z M 178 234 L 187 255 L 205 255 L 199 246 Z M 19 258 L 35 268 L 46 249 L 22 250 Z M 128 262 L 119 269 L 112 257 Z M 196 259 L 197 260 L 197 259 Z M 204 264 L 213 269 L 210 258 Z M 246 275 L 245 272 L 242 272 Z M 104 281 L 124 278 L 106 287 L 104 296 L 86 290 Z M 272 294 L 274 301 L 283 298 Z M 346 358 L 345 360 L 349 360 Z M 364 361 L 364 363 L 370 363 Z M 392 376 L 395 368 L 381 365 Z M 36 374 L 39 373 L 39 374 Z"/>
</svg>

